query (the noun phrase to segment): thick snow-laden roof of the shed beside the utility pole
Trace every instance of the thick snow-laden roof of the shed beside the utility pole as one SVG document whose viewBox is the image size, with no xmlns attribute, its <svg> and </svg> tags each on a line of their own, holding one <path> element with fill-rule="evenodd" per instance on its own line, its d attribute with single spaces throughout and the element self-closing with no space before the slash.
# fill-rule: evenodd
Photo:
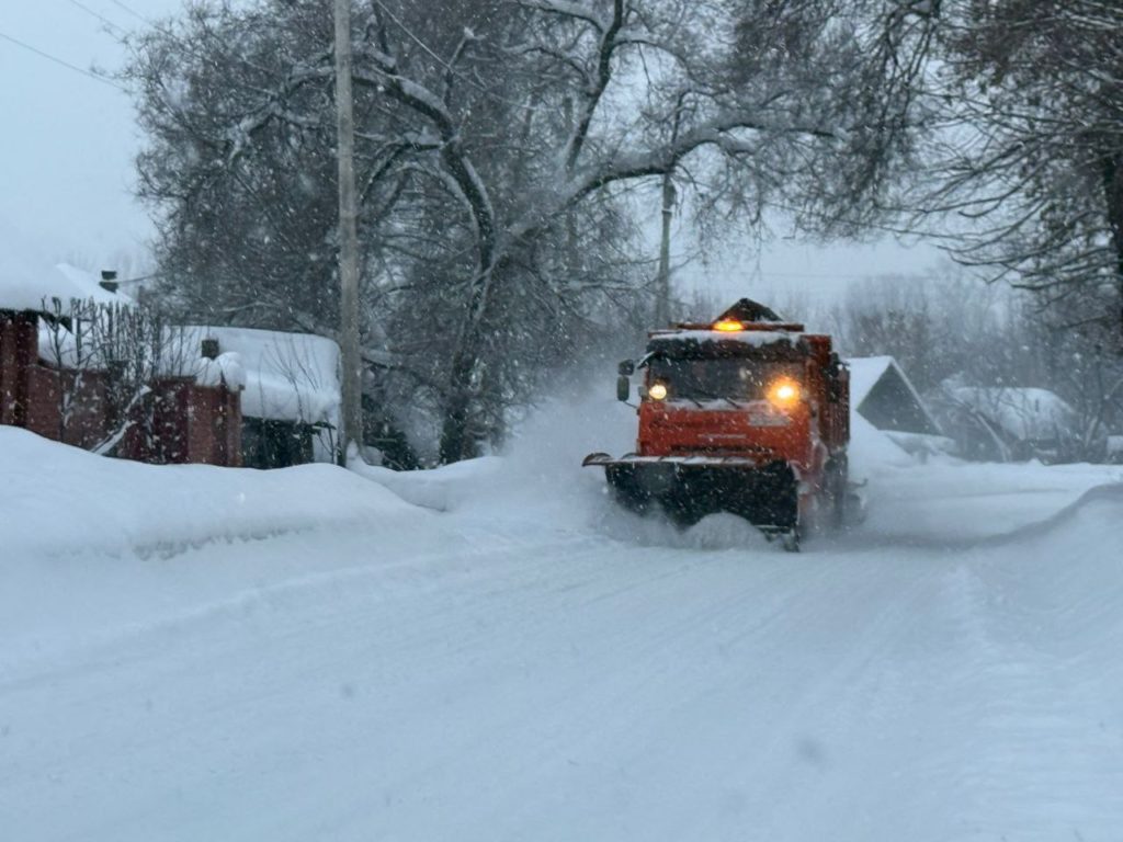
<svg viewBox="0 0 1123 842">
<path fill-rule="evenodd" d="M 336 423 L 340 403 L 339 346 L 332 340 L 252 328 L 191 327 L 186 331 L 194 348 L 204 338 L 218 339 L 219 360 L 226 357 L 231 366 L 237 364 L 231 376 L 245 383 L 243 415 Z M 197 376 L 216 379 L 218 370 L 208 368 Z M 227 383 L 234 385 L 229 378 Z"/>
</svg>

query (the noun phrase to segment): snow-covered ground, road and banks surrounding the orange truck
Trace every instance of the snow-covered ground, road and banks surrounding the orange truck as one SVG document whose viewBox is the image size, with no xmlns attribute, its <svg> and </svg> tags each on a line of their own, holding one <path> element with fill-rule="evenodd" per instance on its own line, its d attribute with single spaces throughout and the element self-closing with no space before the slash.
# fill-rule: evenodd
<svg viewBox="0 0 1123 842">
<path fill-rule="evenodd" d="M 0 839 L 1119 840 L 1119 468 L 856 427 L 800 555 L 622 514 L 610 402 L 428 474 L 0 428 Z"/>
</svg>

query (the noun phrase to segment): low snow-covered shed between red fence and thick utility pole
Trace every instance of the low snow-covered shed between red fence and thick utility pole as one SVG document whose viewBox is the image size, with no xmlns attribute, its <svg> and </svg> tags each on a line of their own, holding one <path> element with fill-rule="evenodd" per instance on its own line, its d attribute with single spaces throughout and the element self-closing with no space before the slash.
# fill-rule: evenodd
<svg viewBox="0 0 1123 842">
<path fill-rule="evenodd" d="M 241 365 L 241 463 L 282 468 L 335 459 L 341 404 L 339 346 L 310 333 L 195 326 L 186 341 L 213 342 Z"/>
</svg>

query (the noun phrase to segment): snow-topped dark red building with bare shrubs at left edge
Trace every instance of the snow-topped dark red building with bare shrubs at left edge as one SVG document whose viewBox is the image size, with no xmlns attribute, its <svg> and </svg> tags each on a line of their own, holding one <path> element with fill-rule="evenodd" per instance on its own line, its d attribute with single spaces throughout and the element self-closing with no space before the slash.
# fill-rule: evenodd
<svg viewBox="0 0 1123 842">
<path fill-rule="evenodd" d="M 144 461 L 240 464 L 237 360 L 154 355 L 174 345 L 90 273 L 0 265 L 0 423 Z"/>
</svg>

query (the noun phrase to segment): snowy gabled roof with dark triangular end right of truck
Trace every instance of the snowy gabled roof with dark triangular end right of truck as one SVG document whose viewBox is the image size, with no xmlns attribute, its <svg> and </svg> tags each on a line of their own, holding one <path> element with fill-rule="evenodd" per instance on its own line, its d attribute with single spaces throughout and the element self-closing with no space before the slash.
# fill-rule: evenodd
<svg viewBox="0 0 1123 842">
<path fill-rule="evenodd" d="M 893 357 L 851 357 L 850 410 L 879 430 L 940 436 L 940 425 Z"/>
</svg>

